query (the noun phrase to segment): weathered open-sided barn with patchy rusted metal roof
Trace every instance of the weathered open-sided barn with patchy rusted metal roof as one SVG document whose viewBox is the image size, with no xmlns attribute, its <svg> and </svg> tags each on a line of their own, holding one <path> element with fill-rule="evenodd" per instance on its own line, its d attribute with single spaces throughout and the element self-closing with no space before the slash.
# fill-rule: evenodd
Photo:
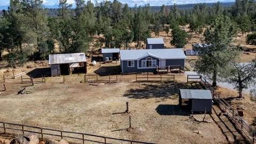
<svg viewBox="0 0 256 144">
<path fill-rule="evenodd" d="M 52 76 L 69 75 L 74 71 L 86 73 L 85 53 L 50 54 Z"/>
</svg>

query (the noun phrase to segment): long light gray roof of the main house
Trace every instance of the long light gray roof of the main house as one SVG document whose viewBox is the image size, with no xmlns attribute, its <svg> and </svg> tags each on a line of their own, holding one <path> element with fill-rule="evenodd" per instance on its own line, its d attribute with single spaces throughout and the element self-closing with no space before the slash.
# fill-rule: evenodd
<svg viewBox="0 0 256 144">
<path fill-rule="evenodd" d="M 147 56 L 158 59 L 186 59 L 182 49 L 120 50 L 121 60 L 138 60 Z"/>
</svg>

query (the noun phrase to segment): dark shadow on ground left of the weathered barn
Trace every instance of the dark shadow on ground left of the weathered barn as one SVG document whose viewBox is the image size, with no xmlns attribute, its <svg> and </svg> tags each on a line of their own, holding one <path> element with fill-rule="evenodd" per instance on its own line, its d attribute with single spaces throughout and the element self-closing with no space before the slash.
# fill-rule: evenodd
<svg viewBox="0 0 256 144">
<path fill-rule="evenodd" d="M 42 75 L 45 75 L 45 77 L 51 77 L 51 68 L 36 68 L 29 71 L 27 75 L 33 78 L 41 78 Z"/>
</svg>

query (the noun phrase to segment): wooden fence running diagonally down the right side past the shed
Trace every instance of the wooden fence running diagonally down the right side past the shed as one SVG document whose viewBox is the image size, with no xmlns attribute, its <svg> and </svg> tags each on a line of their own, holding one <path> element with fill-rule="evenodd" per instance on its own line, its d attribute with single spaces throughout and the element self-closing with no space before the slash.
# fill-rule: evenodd
<svg viewBox="0 0 256 144">
<path fill-rule="evenodd" d="M 250 125 L 247 124 L 247 122 L 245 122 L 244 119 L 238 115 L 237 111 L 234 110 L 234 108 L 231 107 L 227 103 L 227 101 L 221 99 L 219 96 L 217 97 L 217 95 L 214 94 L 214 89 L 210 85 L 210 83 L 206 81 L 206 78 L 204 78 L 202 75 L 188 75 L 187 82 L 199 82 L 201 85 L 205 87 L 205 89 L 211 90 L 211 92 L 213 93 L 213 100 L 218 103 L 222 111 L 225 111 L 230 121 L 235 124 L 236 128 L 243 133 L 244 137 L 249 142 L 256 142 L 256 138 L 253 137 L 253 135 L 251 135 Z"/>
</svg>

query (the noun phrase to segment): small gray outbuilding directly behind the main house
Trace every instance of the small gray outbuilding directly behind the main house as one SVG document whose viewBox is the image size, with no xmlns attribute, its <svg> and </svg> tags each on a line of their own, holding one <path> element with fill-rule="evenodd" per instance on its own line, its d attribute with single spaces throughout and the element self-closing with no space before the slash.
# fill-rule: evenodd
<svg viewBox="0 0 256 144">
<path fill-rule="evenodd" d="M 164 39 L 147 38 L 146 49 L 164 49 Z"/>
</svg>

